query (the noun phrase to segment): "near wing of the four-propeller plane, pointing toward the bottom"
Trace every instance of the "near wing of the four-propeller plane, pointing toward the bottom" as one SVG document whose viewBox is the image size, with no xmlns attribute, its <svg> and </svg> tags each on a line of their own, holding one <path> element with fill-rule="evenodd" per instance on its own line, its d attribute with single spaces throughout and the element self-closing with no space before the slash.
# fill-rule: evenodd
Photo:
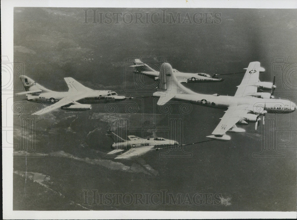
<svg viewBox="0 0 297 220">
<path fill-rule="evenodd" d="M 223 136 L 233 125 L 235 125 L 241 117 L 249 112 L 248 105 L 232 106 L 225 111 L 220 123 L 211 133 L 217 136 Z"/>
</svg>

